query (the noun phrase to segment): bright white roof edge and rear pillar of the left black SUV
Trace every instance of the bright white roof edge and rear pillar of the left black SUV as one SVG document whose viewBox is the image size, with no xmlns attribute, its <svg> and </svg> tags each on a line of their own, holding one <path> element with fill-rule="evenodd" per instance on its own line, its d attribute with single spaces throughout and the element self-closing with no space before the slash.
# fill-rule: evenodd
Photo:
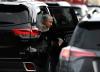
<svg viewBox="0 0 100 72">
<path fill-rule="evenodd" d="M 20 5 L 20 4 L 22 4 L 22 5 L 25 5 L 29 10 L 29 14 L 32 17 L 32 20 L 34 20 L 35 22 L 36 22 L 37 13 L 40 12 L 39 6 L 47 6 L 43 2 L 26 2 L 26 1 L 14 1 L 14 2 L 6 1 L 6 2 L 0 2 L 0 4 L 4 4 L 4 5 Z"/>
</svg>

